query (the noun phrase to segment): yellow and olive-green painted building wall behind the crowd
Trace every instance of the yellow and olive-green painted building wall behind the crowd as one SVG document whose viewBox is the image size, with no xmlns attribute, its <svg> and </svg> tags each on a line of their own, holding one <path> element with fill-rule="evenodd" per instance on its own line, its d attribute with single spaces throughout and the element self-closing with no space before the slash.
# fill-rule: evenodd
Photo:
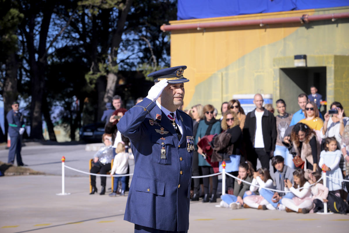
<svg viewBox="0 0 349 233">
<path fill-rule="evenodd" d="M 301 17 L 303 14 L 348 11 L 349 7 L 297 10 L 171 21 L 170 24 Z M 333 59 L 332 64 L 325 63 L 325 66 L 333 67 L 333 75 L 342 76 L 333 76 L 332 80 L 327 77 L 327 96 L 334 99 L 331 97 L 332 93 L 341 93 L 335 95 L 336 101 L 342 101 L 349 109 L 348 100 L 344 101 L 347 94 L 343 90 L 343 87 L 349 85 L 348 59 L 345 59 L 349 55 L 348 38 L 349 19 L 262 27 L 174 30 L 171 31 L 171 66 L 188 67 L 184 72 L 184 77 L 190 79 L 190 82 L 185 83 L 185 109 L 199 103 L 210 103 L 220 111 L 221 103 L 232 99 L 233 94 L 273 94 L 275 102 L 275 97 L 280 97 L 277 86 L 280 85 L 280 81 L 279 75 L 275 75 L 274 58 L 292 58 L 288 66 L 294 67 L 293 56 L 296 54 L 307 54 L 309 57 L 342 55 Z M 334 63 L 338 66 L 335 67 Z M 314 64 L 316 66 L 316 62 Z M 331 74 L 329 72 L 331 71 L 327 70 L 327 73 Z M 340 100 L 337 100 L 337 96 Z"/>
</svg>

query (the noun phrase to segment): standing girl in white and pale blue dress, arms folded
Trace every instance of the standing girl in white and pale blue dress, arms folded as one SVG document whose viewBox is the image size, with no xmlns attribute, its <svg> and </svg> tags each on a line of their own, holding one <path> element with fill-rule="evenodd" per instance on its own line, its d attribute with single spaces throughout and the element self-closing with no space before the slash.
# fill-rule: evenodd
<svg viewBox="0 0 349 233">
<path fill-rule="evenodd" d="M 335 137 L 326 138 L 325 150 L 320 153 L 319 166 L 326 171 L 327 188 L 329 191 L 335 191 L 335 194 L 340 197 L 339 190 L 342 189 L 343 175 L 339 168 L 339 162 L 342 154 L 337 150 L 337 140 Z"/>
</svg>

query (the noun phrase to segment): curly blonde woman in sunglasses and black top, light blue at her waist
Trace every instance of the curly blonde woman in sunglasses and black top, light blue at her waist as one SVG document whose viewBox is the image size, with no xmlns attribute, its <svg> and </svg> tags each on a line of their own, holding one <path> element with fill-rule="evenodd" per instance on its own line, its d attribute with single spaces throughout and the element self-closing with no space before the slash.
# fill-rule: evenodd
<svg viewBox="0 0 349 233">
<path fill-rule="evenodd" d="M 230 160 L 225 160 L 225 172 L 233 176 L 238 176 L 241 159 L 242 131 L 239 125 L 237 114 L 232 110 L 227 110 L 223 115 L 221 128 L 223 132 L 231 134 L 229 146 L 233 144 L 233 153 L 229 155 Z M 219 162 L 219 171 L 222 172 L 222 161 Z M 234 182 L 233 177 L 227 176 L 228 194 L 234 194 Z"/>
</svg>

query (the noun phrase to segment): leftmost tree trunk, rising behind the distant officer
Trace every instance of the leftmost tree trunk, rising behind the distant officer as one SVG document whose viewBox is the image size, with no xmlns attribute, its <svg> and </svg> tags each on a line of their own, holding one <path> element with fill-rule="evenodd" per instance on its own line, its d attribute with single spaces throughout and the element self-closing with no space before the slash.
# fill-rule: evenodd
<svg viewBox="0 0 349 233">
<path fill-rule="evenodd" d="M 12 110 L 13 101 L 17 100 L 18 90 L 17 90 L 17 70 L 18 70 L 18 61 L 16 59 L 15 52 L 8 54 L 6 59 L 6 78 L 3 85 L 3 111 L 5 118 L 5 136 L 7 135 L 8 122 L 6 119 L 7 112 Z M 4 141 L 7 138 L 3 139 Z"/>
</svg>

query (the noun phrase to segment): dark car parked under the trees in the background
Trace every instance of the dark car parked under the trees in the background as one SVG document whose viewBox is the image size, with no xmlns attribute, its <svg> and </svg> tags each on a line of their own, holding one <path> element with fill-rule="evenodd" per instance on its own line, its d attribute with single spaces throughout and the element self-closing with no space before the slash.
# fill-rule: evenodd
<svg viewBox="0 0 349 233">
<path fill-rule="evenodd" d="M 102 142 L 102 135 L 104 133 L 103 122 L 92 123 L 84 125 L 80 129 L 80 140 L 86 142 Z"/>
</svg>

